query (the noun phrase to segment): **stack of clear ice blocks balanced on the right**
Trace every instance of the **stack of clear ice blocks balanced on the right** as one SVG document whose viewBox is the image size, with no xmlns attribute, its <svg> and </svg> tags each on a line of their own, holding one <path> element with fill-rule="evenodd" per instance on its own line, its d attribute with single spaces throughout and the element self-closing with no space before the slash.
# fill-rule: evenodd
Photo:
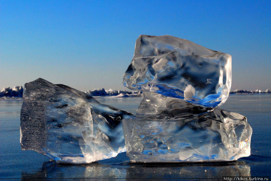
<svg viewBox="0 0 271 181">
<path fill-rule="evenodd" d="M 231 88 L 231 56 L 169 35 L 140 35 L 124 86 L 143 90 L 122 122 L 134 162 L 232 161 L 250 155 L 246 117 L 214 108 Z"/>
</svg>

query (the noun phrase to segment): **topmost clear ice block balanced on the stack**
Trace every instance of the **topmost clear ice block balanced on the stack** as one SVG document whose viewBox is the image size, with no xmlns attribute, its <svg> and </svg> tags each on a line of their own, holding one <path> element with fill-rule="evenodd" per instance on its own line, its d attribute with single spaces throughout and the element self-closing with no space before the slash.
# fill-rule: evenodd
<svg viewBox="0 0 271 181">
<path fill-rule="evenodd" d="M 206 107 L 224 103 L 231 88 L 232 57 L 169 35 L 140 35 L 123 75 L 132 90 L 147 90 Z"/>
</svg>

